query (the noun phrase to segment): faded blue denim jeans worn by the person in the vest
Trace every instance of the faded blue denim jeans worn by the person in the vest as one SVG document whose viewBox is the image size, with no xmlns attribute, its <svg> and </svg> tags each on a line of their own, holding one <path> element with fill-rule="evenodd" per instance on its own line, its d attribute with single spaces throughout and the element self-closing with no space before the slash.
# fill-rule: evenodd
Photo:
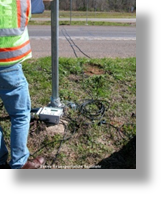
<svg viewBox="0 0 161 197">
<path fill-rule="evenodd" d="M 21 64 L 0 67 L 0 98 L 11 118 L 12 169 L 21 168 L 29 157 L 27 139 L 30 125 L 31 102 L 28 83 Z M 8 150 L 0 127 L 0 164 L 7 161 Z"/>
</svg>

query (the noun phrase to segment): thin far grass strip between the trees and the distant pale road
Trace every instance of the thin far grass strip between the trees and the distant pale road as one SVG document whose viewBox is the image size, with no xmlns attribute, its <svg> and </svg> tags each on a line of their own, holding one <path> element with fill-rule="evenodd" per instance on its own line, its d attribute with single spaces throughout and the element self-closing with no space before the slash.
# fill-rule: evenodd
<svg viewBox="0 0 161 197">
<path fill-rule="evenodd" d="M 33 14 L 33 18 L 50 18 L 50 11 L 45 10 L 43 14 Z M 60 18 L 70 17 L 70 11 L 59 11 Z M 72 11 L 73 18 L 86 18 L 86 12 L 84 11 Z M 136 13 L 129 12 L 88 12 L 89 18 L 136 18 Z"/>
</svg>

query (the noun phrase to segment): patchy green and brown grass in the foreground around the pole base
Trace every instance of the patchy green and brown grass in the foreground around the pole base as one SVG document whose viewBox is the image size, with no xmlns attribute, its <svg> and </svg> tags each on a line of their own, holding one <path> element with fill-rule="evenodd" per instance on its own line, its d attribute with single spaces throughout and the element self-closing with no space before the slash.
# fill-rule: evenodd
<svg viewBox="0 0 161 197">
<path fill-rule="evenodd" d="M 52 94 L 51 57 L 30 59 L 23 69 L 32 108 L 46 106 Z M 68 124 L 60 123 L 66 128 L 64 137 L 59 132 L 48 135 L 49 125 L 34 120 L 28 140 L 31 155 L 45 156 L 49 168 L 136 168 L 136 58 L 60 58 L 59 72 L 60 99 L 66 106 L 68 101 L 80 106 L 86 99 L 99 100 L 106 107 L 105 114 L 89 119 L 101 104 L 90 103 L 81 113 L 67 107 L 63 119 Z M 10 121 L 2 106 L 0 116 L 9 148 Z"/>
</svg>

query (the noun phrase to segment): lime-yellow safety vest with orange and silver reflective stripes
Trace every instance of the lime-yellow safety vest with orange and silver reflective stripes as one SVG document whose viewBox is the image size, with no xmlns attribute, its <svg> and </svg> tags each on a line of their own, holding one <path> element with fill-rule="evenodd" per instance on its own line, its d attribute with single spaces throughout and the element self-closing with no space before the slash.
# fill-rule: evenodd
<svg viewBox="0 0 161 197">
<path fill-rule="evenodd" d="M 0 1 L 0 66 L 32 56 L 27 30 L 30 14 L 30 0 Z"/>
</svg>

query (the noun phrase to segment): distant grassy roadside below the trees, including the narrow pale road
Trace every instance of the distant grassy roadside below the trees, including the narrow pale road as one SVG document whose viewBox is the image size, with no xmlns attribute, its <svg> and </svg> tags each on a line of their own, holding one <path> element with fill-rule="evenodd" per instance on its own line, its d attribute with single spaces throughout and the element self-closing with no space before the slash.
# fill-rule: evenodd
<svg viewBox="0 0 161 197">
<path fill-rule="evenodd" d="M 51 12 L 32 15 L 30 25 L 50 25 Z M 122 12 L 59 12 L 60 25 L 135 26 L 136 13 Z"/>
</svg>

